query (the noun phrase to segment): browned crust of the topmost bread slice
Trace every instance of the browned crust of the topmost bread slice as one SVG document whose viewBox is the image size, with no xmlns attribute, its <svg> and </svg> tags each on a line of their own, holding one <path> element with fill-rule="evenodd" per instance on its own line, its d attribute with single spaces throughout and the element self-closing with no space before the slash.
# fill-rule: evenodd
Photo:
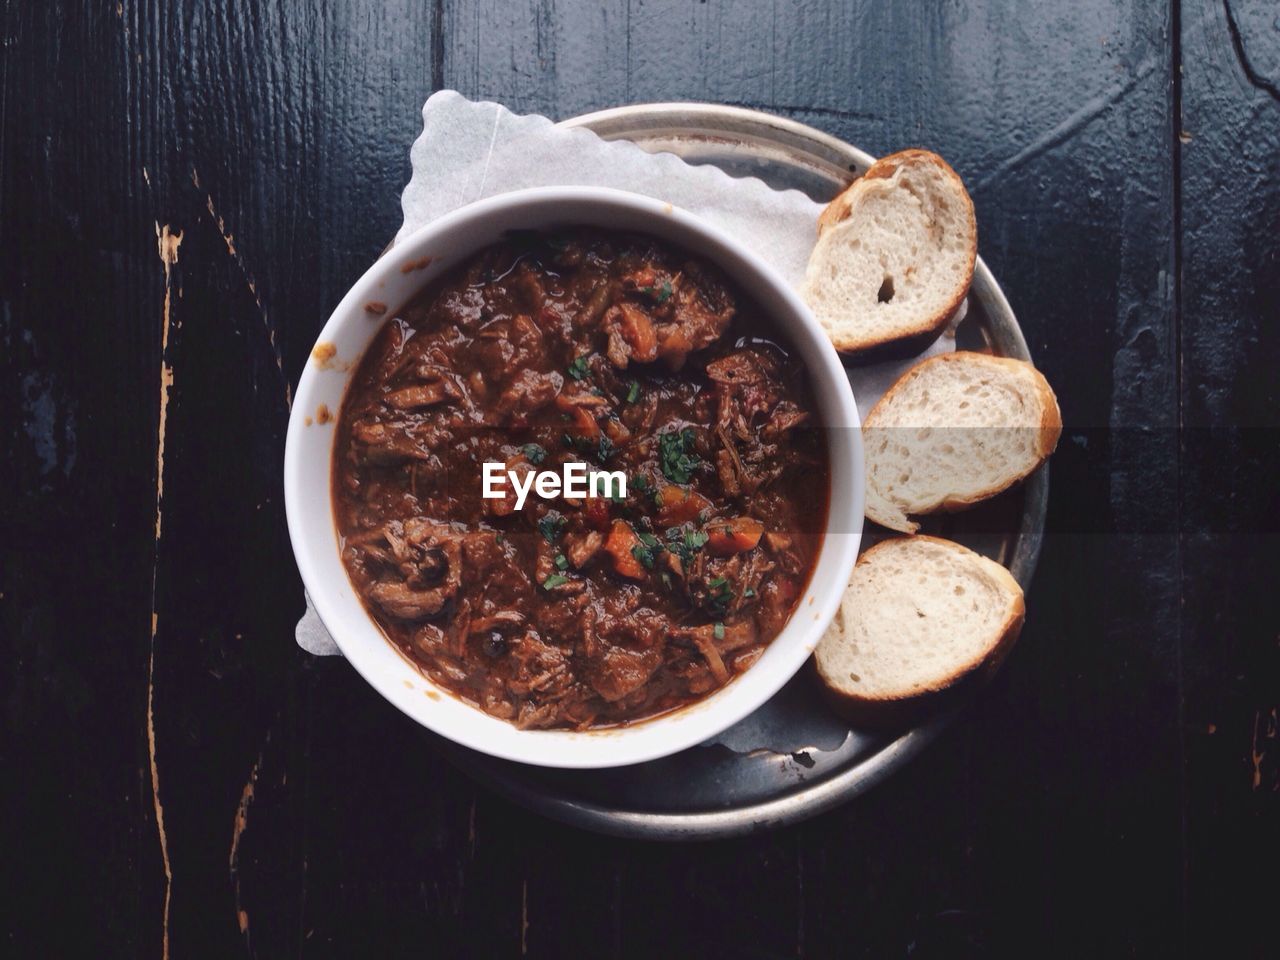
<svg viewBox="0 0 1280 960">
<path fill-rule="evenodd" d="M 973 284 L 973 271 L 978 260 L 978 218 L 974 214 L 973 198 L 969 196 L 969 191 L 965 189 L 960 174 L 951 169 L 951 165 L 946 160 L 928 150 L 918 147 L 900 150 L 872 164 L 861 177 L 823 207 L 822 214 L 818 215 L 818 236 L 820 237 L 826 230 L 849 219 L 852 214 L 854 204 L 867 191 L 868 183 L 878 179 L 890 179 L 900 166 L 909 163 L 927 163 L 938 168 L 943 177 L 951 182 L 957 196 L 964 200 L 970 224 L 965 280 L 957 287 L 955 296 L 934 316 L 925 317 L 900 337 L 854 340 L 832 335 L 831 342 L 836 347 L 836 351 L 850 361 L 870 364 L 913 356 L 909 351 L 919 353 L 942 335 L 942 332 L 946 330 L 947 324 L 960 308 L 964 298 L 969 294 L 969 287 Z"/>
</svg>

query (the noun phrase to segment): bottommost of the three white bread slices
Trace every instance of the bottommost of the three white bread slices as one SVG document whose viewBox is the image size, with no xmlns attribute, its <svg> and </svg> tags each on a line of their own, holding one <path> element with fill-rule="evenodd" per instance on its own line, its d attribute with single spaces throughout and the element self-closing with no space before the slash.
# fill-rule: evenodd
<svg viewBox="0 0 1280 960">
<path fill-rule="evenodd" d="M 1021 588 L 995 561 L 950 540 L 900 536 L 858 558 L 814 663 L 846 716 L 902 716 L 902 701 L 998 660 L 1024 616 Z"/>
</svg>

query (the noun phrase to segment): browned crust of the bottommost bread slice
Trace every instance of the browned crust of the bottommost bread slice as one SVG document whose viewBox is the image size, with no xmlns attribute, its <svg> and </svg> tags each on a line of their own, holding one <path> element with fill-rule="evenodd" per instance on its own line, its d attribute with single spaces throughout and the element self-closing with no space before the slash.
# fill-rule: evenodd
<svg viewBox="0 0 1280 960">
<path fill-rule="evenodd" d="M 991 668 L 993 671 L 995 667 L 1004 660 L 1014 643 L 1016 643 L 1023 628 L 1023 622 L 1027 618 L 1027 604 L 1023 589 L 1014 579 L 1014 575 L 1000 563 L 996 563 L 979 553 L 974 553 L 969 548 L 961 547 L 951 540 L 929 536 L 927 534 L 918 534 L 914 538 L 890 538 L 887 540 L 881 540 L 878 544 L 863 553 L 863 556 L 858 558 L 858 564 L 860 566 L 869 562 L 870 558 L 876 556 L 877 550 L 884 549 L 886 547 L 892 549 L 892 544 L 902 540 L 928 540 L 947 549 L 954 549 L 984 561 L 987 564 L 986 570 L 997 580 L 1004 582 L 1005 588 L 1011 591 L 1014 602 L 996 634 L 995 641 L 986 650 L 974 655 L 970 660 L 957 664 L 955 669 L 941 680 L 936 682 L 916 684 L 896 696 L 868 696 L 841 689 L 835 677 L 829 677 L 823 672 L 820 660 L 815 655 L 813 658 L 814 672 L 822 681 L 824 698 L 838 714 L 854 723 L 865 726 L 893 724 L 910 719 L 913 716 L 922 712 L 937 710 L 941 705 L 940 699 L 943 695 L 956 691 L 966 678 L 984 672 L 984 668 Z"/>
</svg>

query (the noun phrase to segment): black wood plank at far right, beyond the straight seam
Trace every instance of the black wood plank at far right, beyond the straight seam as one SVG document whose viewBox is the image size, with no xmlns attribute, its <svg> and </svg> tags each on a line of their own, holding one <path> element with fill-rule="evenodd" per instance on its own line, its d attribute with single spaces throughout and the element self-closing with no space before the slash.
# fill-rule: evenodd
<svg viewBox="0 0 1280 960">
<path fill-rule="evenodd" d="M 1224 956 L 1272 950 L 1257 854 L 1280 844 L 1275 13 L 1189 0 L 1180 32 L 1189 950 Z"/>
</svg>

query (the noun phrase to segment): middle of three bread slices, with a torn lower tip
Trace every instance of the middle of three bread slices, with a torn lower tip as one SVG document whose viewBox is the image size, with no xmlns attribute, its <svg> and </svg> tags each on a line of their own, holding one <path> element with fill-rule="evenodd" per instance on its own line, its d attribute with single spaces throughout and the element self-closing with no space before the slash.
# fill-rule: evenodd
<svg viewBox="0 0 1280 960">
<path fill-rule="evenodd" d="M 908 515 L 995 497 L 1057 447 L 1062 415 L 1030 364 L 943 353 L 908 370 L 863 424 L 867 517 L 914 534 Z"/>
</svg>

